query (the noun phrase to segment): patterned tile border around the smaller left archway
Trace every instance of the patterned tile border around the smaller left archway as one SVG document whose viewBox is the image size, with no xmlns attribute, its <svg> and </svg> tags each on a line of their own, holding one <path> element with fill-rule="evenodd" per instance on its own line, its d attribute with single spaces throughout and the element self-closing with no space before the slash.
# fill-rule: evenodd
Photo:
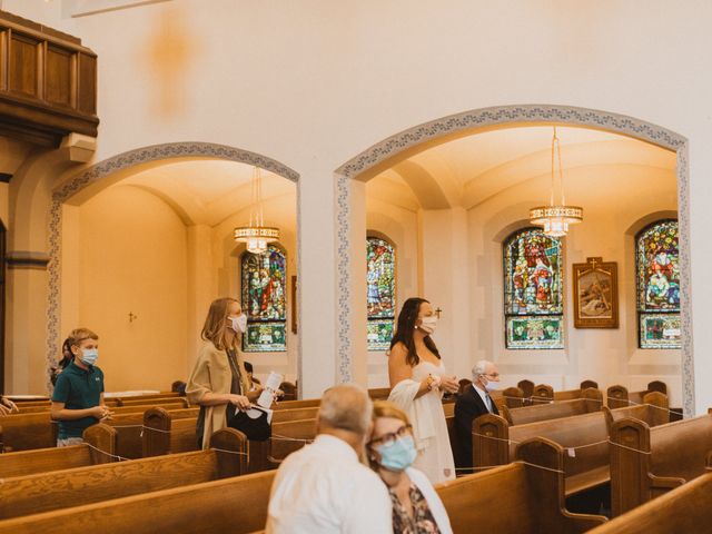
<svg viewBox="0 0 712 534">
<path fill-rule="evenodd" d="M 52 205 L 50 209 L 48 239 L 49 239 L 49 288 L 47 299 L 47 344 L 44 359 L 47 363 L 47 389 L 52 390 L 49 379 L 50 368 L 56 365 L 57 350 L 60 344 L 59 314 L 61 307 L 61 233 L 62 233 L 62 204 L 85 187 L 97 182 L 120 170 L 129 169 L 137 165 L 150 161 L 160 161 L 175 158 L 215 158 L 240 164 L 254 165 L 269 170 L 275 175 L 287 178 L 297 185 L 297 227 L 301 220 L 301 208 L 299 204 L 300 188 L 299 175 L 289 167 L 277 160 L 260 156 L 259 154 L 225 145 L 209 142 L 170 142 L 165 145 L 152 145 L 150 147 L 129 150 L 112 158 L 82 170 L 75 177 L 59 186 L 52 194 Z M 300 233 L 297 231 L 297 276 L 301 276 L 301 240 Z M 301 298 L 298 298 L 301 308 Z M 299 317 L 303 310 L 299 309 Z M 301 354 L 301 338 L 299 338 L 298 354 Z M 297 358 L 300 360 L 301 358 Z M 301 378 L 301 365 L 298 368 L 298 377 Z M 301 379 L 298 380 L 299 384 Z"/>
</svg>

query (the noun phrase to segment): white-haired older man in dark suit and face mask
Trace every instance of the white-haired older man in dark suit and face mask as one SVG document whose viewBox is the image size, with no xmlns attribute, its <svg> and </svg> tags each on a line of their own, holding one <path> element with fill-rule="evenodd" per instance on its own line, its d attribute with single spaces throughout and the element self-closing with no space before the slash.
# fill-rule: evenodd
<svg viewBox="0 0 712 534">
<path fill-rule="evenodd" d="M 472 369 L 472 386 L 467 387 L 455 403 L 455 465 L 459 469 L 473 466 L 472 462 L 472 422 L 484 414 L 500 415 L 490 392 L 500 386 L 497 366 L 481 359 Z M 462 473 L 462 471 L 461 471 Z"/>
</svg>

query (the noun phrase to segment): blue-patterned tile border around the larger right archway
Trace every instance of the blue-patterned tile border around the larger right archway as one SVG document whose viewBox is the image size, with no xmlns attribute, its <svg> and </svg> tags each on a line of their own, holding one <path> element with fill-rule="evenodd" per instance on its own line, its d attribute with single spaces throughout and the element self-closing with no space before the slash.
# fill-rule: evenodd
<svg viewBox="0 0 712 534">
<path fill-rule="evenodd" d="M 443 117 L 392 136 L 368 148 L 336 169 L 336 249 L 337 300 L 336 347 L 338 379 L 350 382 L 352 344 L 349 340 L 350 309 L 350 180 L 362 172 L 383 164 L 398 154 L 426 141 L 456 134 L 475 132 L 496 125 L 527 122 L 556 122 L 586 128 L 599 128 L 622 134 L 663 148 L 678 155 L 678 219 L 680 224 L 681 323 L 682 323 L 682 386 L 685 416 L 694 414 L 694 359 L 692 352 L 692 303 L 690 278 L 690 169 L 688 139 L 674 131 L 624 115 L 570 106 L 522 105 L 476 109 Z"/>
</svg>

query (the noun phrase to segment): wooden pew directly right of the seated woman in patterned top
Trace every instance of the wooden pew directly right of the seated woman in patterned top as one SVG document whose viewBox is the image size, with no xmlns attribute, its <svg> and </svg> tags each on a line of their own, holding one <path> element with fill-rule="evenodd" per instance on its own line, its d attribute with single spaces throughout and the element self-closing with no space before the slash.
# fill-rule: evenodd
<svg viewBox="0 0 712 534">
<path fill-rule="evenodd" d="M 606 520 L 564 504 L 564 451 L 545 439 L 523 443 L 513 463 L 436 487 L 456 533 L 581 533 Z M 534 467 L 534 465 L 544 467 Z"/>
</svg>

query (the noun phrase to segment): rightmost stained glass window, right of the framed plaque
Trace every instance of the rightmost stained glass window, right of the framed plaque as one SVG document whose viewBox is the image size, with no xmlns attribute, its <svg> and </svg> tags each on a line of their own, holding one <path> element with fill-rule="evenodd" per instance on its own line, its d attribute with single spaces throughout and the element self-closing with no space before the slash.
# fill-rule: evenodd
<svg viewBox="0 0 712 534">
<path fill-rule="evenodd" d="M 635 236 L 641 348 L 680 348 L 678 221 L 659 220 Z"/>
</svg>

